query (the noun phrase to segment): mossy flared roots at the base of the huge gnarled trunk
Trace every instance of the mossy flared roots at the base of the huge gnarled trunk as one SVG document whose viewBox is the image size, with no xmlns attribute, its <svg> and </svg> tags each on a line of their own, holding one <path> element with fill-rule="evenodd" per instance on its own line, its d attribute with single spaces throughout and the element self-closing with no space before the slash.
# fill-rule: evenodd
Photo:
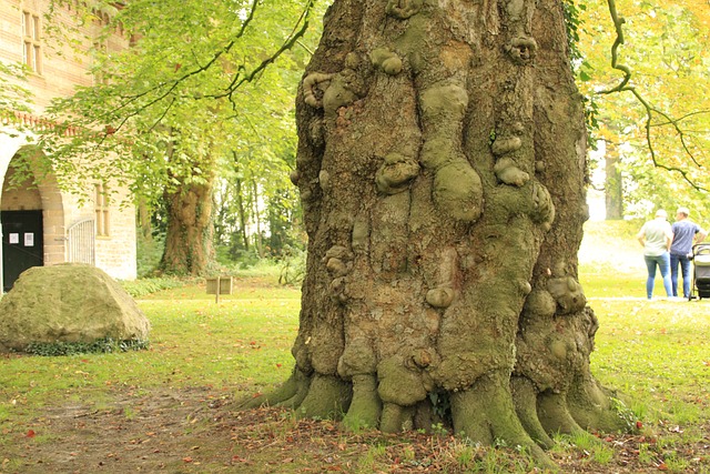
<svg viewBox="0 0 710 474">
<path fill-rule="evenodd" d="M 551 433 L 577 435 L 587 433 L 585 428 L 610 432 L 630 427 L 617 412 L 613 394 L 596 380 L 579 374 L 574 382 L 569 393 L 538 393 L 525 376 L 510 377 L 505 370 L 488 372 L 467 390 L 448 393 L 454 433 L 485 445 L 517 447 L 540 467 L 557 471 L 545 453 L 555 444 Z M 412 406 L 383 403 L 377 385 L 375 374 L 345 381 L 294 369 L 274 392 L 250 399 L 239 409 L 286 406 L 298 417 L 342 418 L 347 430 L 379 428 L 384 433 L 430 432 L 434 422 L 444 421 L 428 399 Z"/>
</svg>

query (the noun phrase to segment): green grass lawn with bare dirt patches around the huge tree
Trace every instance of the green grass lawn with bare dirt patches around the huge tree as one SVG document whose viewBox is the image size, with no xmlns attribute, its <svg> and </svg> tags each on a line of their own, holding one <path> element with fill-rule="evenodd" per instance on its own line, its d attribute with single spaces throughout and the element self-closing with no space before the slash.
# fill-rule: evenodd
<svg viewBox="0 0 710 474">
<path fill-rule="evenodd" d="M 559 437 L 550 455 L 562 472 L 710 473 L 710 301 L 647 301 L 633 224 L 589 224 L 580 280 L 600 322 L 592 371 L 640 430 Z M 0 473 L 534 470 L 445 432 L 345 433 L 281 410 L 234 412 L 232 401 L 293 365 L 300 291 L 273 275 L 239 279 L 219 303 L 190 285 L 139 304 L 149 350 L 1 356 Z"/>
</svg>

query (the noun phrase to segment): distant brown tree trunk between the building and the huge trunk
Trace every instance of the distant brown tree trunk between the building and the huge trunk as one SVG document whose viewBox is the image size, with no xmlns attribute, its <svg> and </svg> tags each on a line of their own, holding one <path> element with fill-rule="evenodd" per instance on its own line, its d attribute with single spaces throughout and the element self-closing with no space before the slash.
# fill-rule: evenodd
<svg viewBox="0 0 710 474">
<path fill-rule="evenodd" d="M 213 177 L 165 192 L 168 231 L 160 269 L 168 274 L 203 275 L 214 261 Z"/>
</svg>

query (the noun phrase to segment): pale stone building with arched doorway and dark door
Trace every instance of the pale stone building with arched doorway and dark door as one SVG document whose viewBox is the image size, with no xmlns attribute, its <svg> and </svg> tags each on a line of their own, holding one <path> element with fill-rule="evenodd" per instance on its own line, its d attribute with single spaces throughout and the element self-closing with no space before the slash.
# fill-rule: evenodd
<svg viewBox="0 0 710 474">
<path fill-rule="evenodd" d="M 67 1 L 52 12 L 51 26 L 78 27 L 77 9 L 85 2 Z M 79 50 L 50 39 L 45 14 L 49 0 L 0 0 L 0 61 L 24 63 L 30 73 L 23 87 L 33 94 L 30 111 L 3 110 L 0 101 L 0 224 L 2 230 L 0 283 L 12 288 L 19 274 L 30 266 L 63 262 L 94 264 L 114 279 L 136 275 L 135 210 L 120 205 L 128 190 L 112 182 L 111 172 L 97 182 L 80 183 L 84 198 L 65 191 L 61 177 L 33 169 L 39 153 L 36 133 L 52 127 L 41 120 L 53 98 L 67 97 L 77 85 L 92 85 L 101 80 L 91 73 L 92 33 L 105 26 L 110 12 L 93 10 L 92 21 L 84 22 L 75 34 Z M 116 29 L 103 48 L 118 50 L 128 46 L 123 31 Z M 10 79 L 12 80 L 12 79 Z M 2 92 L 0 92 L 1 95 Z M 20 157 L 24 158 L 22 160 Z M 33 178 L 13 180 L 18 167 L 29 163 Z M 24 173 L 27 174 L 27 173 Z M 91 196 L 85 199 L 85 196 Z"/>
</svg>

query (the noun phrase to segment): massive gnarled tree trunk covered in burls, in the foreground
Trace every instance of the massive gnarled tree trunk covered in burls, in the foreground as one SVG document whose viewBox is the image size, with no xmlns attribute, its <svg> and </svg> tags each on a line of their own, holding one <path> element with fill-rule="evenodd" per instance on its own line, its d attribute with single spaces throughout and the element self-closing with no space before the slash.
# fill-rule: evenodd
<svg viewBox="0 0 710 474">
<path fill-rule="evenodd" d="M 531 450 L 617 428 L 577 280 L 585 125 L 559 0 L 335 0 L 297 99 L 307 275 L 254 403 Z"/>
</svg>

